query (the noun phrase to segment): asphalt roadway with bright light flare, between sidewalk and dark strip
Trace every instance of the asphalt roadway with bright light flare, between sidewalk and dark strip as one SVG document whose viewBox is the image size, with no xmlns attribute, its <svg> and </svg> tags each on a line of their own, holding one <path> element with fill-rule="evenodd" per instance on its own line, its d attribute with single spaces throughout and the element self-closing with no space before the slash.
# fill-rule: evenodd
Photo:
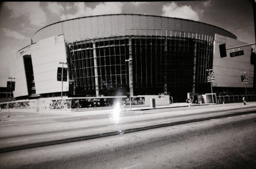
<svg viewBox="0 0 256 169">
<path fill-rule="evenodd" d="M 227 115 L 232 116 L 233 113 L 241 111 L 256 111 L 255 105 L 251 107 L 246 105 L 242 109 L 241 105 L 219 104 L 132 112 L 113 109 L 106 111 L 106 113 L 95 113 L 94 115 L 81 114 L 80 116 L 3 121 L 0 123 L 0 150 L 1 152 L 5 152 L 2 150 L 6 149 L 6 151 L 9 151 L 11 147 L 20 147 L 14 149 L 20 150 L 24 149 L 22 146 L 26 145 L 32 145 L 28 147 L 54 145 L 56 143 L 72 142 L 74 141 L 72 138 L 86 140 L 87 136 L 103 137 L 104 133 L 112 132 L 112 134 L 106 135 L 111 136 L 113 132 L 117 132 L 117 134 L 134 132 L 138 131 L 136 129 L 159 128 L 200 121 L 201 119 L 208 120 L 207 118 L 215 119 Z M 49 143 L 43 144 L 46 142 Z"/>
</svg>

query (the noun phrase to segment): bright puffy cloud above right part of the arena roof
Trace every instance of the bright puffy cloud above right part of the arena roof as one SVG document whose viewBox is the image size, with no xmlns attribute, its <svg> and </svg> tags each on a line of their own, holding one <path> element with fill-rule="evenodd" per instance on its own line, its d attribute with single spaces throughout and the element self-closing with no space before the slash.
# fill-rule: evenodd
<svg viewBox="0 0 256 169">
<path fill-rule="evenodd" d="M 177 3 L 175 2 L 163 5 L 162 11 L 162 16 L 191 19 L 196 21 L 199 20 L 199 15 L 192 9 L 191 6 L 177 6 Z"/>
</svg>

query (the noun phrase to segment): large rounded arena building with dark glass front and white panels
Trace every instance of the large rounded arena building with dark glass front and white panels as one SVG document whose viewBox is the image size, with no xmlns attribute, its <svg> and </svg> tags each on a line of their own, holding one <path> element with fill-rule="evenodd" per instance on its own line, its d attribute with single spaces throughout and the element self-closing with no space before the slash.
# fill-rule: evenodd
<svg viewBox="0 0 256 169">
<path fill-rule="evenodd" d="M 240 78 L 245 71 L 249 91 L 254 77 L 251 47 L 240 48 L 242 56 L 230 57 L 235 49 L 228 49 L 227 57 L 220 57 L 220 44 L 231 48 L 246 43 L 225 29 L 180 18 L 113 14 L 64 20 L 37 31 L 31 45 L 12 58 L 14 97 L 170 92 L 184 102 L 188 92 L 211 91 L 209 69 L 214 71 L 213 92 L 245 90 Z M 57 81 L 58 67 L 68 71 L 63 83 Z"/>
</svg>

